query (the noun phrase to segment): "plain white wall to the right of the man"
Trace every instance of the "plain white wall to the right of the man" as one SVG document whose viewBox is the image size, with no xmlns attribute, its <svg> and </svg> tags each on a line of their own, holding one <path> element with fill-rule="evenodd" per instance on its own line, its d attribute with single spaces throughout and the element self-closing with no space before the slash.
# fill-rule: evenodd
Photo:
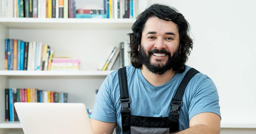
<svg viewBox="0 0 256 134">
<path fill-rule="evenodd" d="M 190 23 L 195 40 L 187 64 L 215 82 L 222 126 L 256 128 L 256 2 L 151 0 L 153 3 L 175 7 Z"/>
</svg>

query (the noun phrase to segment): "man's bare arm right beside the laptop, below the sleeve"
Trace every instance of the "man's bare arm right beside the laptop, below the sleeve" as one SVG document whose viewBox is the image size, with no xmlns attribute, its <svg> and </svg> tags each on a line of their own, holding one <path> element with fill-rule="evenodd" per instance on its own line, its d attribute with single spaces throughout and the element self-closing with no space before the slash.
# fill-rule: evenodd
<svg viewBox="0 0 256 134">
<path fill-rule="evenodd" d="M 93 134 L 112 134 L 116 127 L 116 122 L 108 123 L 94 120 L 92 118 L 90 119 L 90 122 Z"/>
</svg>

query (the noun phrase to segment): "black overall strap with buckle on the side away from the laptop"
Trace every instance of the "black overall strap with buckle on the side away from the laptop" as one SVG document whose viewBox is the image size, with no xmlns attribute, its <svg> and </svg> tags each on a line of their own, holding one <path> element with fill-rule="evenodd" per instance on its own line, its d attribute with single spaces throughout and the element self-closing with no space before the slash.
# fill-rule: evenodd
<svg viewBox="0 0 256 134">
<path fill-rule="evenodd" d="M 188 70 L 184 78 L 182 79 L 173 99 L 171 102 L 172 110 L 169 113 L 169 128 L 170 133 L 179 131 L 179 115 L 180 115 L 180 106 L 182 105 L 182 97 L 185 92 L 185 89 L 188 85 L 190 79 L 199 73 L 194 68 Z"/>
</svg>

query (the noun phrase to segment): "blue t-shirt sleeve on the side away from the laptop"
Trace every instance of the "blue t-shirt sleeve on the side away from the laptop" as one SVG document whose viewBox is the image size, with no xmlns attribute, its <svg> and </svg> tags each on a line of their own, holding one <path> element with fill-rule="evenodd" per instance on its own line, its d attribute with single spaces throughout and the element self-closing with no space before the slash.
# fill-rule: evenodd
<svg viewBox="0 0 256 134">
<path fill-rule="evenodd" d="M 189 120 L 204 112 L 212 112 L 220 116 L 218 91 L 210 78 L 205 78 L 196 86 L 188 110 Z"/>
</svg>

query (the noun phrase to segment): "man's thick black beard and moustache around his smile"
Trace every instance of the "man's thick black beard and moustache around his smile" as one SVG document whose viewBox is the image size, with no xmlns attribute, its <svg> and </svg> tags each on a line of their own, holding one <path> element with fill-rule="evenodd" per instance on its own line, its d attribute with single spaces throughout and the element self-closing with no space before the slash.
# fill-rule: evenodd
<svg viewBox="0 0 256 134">
<path fill-rule="evenodd" d="M 149 71 L 155 74 L 162 75 L 166 71 L 171 70 L 175 67 L 175 65 L 178 65 L 181 60 L 180 56 L 180 47 L 177 48 L 177 50 L 173 53 L 173 56 L 171 56 L 171 53 L 166 51 L 165 49 L 153 49 L 146 54 L 146 51 L 144 48 L 140 45 L 140 51 L 139 51 L 139 59 L 141 64 L 144 64 Z M 162 53 L 166 54 L 168 56 L 168 60 L 165 63 L 151 63 L 150 57 L 153 53 Z M 156 61 L 161 61 L 161 59 L 157 59 Z"/>
</svg>

